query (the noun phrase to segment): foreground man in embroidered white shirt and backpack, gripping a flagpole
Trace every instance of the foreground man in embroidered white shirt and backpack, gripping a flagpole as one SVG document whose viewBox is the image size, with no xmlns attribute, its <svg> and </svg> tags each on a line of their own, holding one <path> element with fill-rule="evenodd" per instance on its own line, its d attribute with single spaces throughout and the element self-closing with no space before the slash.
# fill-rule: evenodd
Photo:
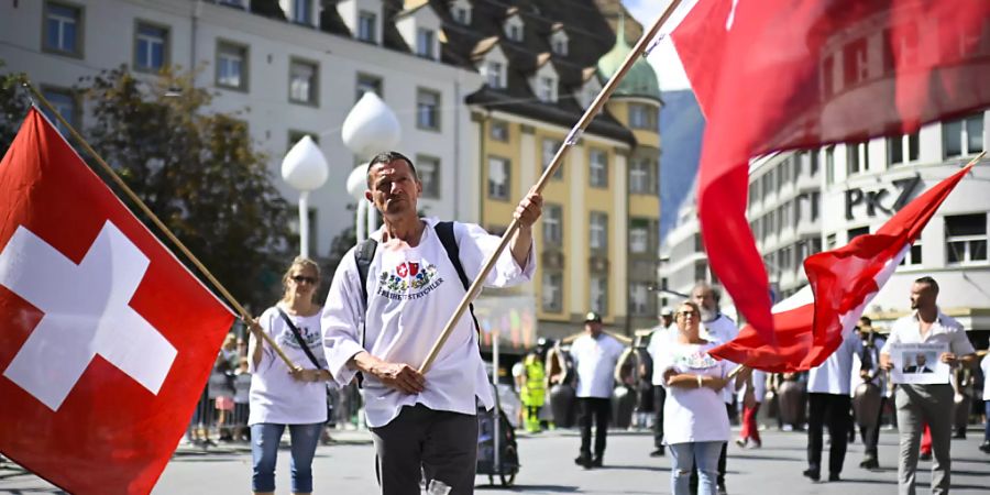
<svg viewBox="0 0 990 495">
<path fill-rule="evenodd" d="M 444 323 L 466 293 L 459 278 L 475 277 L 499 239 L 477 226 L 421 219 L 422 184 L 413 161 L 382 153 L 369 165 L 365 198 L 384 226 L 361 279 L 356 248 L 341 261 L 323 308 L 323 350 L 334 380 L 346 385 L 362 373 L 367 424 L 375 442 L 376 472 L 384 495 L 418 495 L 419 482 L 474 492 L 477 453 L 476 400 L 491 408 L 492 387 L 472 318 L 461 318 L 426 374 L 426 360 Z M 530 191 L 516 208 L 519 230 L 485 283 L 507 286 L 535 270 L 532 224 L 541 197 Z M 362 244 L 363 246 L 373 244 Z M 363 250 L 362 250 L 363 251 Z M 462 272 L 454 263 L 459 263 Z M 429 486 L 429 485 L 428 485 Z"/>
</svg>

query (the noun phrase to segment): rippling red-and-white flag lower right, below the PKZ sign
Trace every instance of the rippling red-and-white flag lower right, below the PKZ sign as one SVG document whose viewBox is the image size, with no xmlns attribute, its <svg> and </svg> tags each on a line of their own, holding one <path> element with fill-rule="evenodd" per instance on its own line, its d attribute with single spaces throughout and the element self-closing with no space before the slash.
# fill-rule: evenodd
<svg viewBox="0 0 990 495">
<path fill-rule="evenodd" d="M 747 324 L 735 340 L 711 354 L 773 373 L 822 364 L 853 331 L 866 306 L 970 168 L 971 164 L 915 198 L 877 233 L 809 256 L 804 272 L 810 285 L 773 308 L 776 346 Z"/>
</svg>

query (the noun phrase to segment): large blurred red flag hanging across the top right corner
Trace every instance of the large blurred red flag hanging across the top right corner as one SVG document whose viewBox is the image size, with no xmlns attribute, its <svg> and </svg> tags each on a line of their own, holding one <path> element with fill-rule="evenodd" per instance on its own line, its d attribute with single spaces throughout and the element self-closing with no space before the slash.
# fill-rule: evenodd
<svg viewBox="0 0 990 495">
<path fill-rule="evenodd" d="M 769 341 L 767 273 L 745 217 L 750 157 L 909 133 L 990 105 L 986 0 L 700 0 L 673 41 L 707 119 L 697 202 L 708 261 Z"/>
</svg>

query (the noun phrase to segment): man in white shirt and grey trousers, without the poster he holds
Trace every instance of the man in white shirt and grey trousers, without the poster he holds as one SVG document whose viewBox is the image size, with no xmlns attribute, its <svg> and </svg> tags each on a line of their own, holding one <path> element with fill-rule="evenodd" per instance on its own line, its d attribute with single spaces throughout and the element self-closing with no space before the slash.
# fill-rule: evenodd
<svg viewBox="0 0 990 495">
<path fill-rule="evenodd" d="M 891 348 L 899 343 L 941 343 L 948 348 L 938 356 L 949 366 L 971 366 L 976 363 L 976 350 L 966 337 L 958 321 L 938 310 L 938 283 L 932 277 L 922 277 L 911 286 L 911 309 L 913 314 L 898 319 L 890 330 L 890 338 L 880 351 L 880 366 L 893 369 Z M 899 384 L 894 395 L 898 409 L 898 430 L 901 451 L 898 462 L 898 492 L 914 495 L 914 473 L 917 469 L 919 441 L 922 425 L 932 430 L 932 493 L 947 494 L 949 491 L 950 437 L 953 429 L 953 386 L 948 383 L 936 385 Z"/>
</svg>

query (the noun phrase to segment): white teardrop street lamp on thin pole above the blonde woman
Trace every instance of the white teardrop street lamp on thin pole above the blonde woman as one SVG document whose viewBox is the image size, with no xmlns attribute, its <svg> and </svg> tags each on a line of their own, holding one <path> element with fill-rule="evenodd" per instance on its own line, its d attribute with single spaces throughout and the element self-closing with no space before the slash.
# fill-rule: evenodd
<svg viewBox="0 0 990 495">
<path fill-rule="evenodd" d="M 323 152 L 304 136 L 282 160 L 282 178 L 299 190 L 299 254 L 309 257 L 309 191 L 327 182 L 329 167 Z"/>
</svg>

